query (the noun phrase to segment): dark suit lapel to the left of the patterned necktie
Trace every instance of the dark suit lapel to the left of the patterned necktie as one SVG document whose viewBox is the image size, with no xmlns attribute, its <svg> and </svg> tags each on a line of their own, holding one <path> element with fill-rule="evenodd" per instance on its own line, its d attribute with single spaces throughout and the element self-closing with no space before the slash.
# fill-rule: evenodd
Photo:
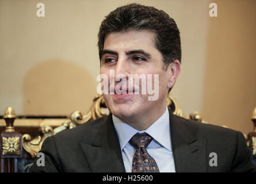
<svg viewBox="0 0 256 184">
<path fill-rule="evenodd" d="M 125 172 L 119 139 L 114 129 L 112 114 L 95 135 L 92 143 L 81 143 L 91 172 Z"/>
</svg>

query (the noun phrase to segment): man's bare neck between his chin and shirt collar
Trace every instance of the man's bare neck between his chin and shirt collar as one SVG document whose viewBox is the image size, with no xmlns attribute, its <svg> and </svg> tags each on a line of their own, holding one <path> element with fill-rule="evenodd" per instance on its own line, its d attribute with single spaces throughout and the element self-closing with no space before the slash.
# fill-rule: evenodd
<svg viewBox="0 0 256 184">
<path fill-rule="evenodd" d="M 144 131 L 150 127 L 159 117 L 163 115 L 166 111 L 166 105 L 162 106 L 161 109 L 152 112 L 147 112 L 143 114 L 136 114 L 132 117 L 119 117 L 121 121 L 127 123 L 131 127 L 138 131 Z"/>
</svg>

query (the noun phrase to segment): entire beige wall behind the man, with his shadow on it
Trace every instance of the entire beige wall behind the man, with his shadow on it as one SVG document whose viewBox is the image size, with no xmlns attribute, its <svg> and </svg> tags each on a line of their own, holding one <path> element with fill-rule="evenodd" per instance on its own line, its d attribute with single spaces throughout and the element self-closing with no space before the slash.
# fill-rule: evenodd
<svg viewBox="0 0 256 184">
<path fill-rule="evenodd" d="M 43 2 L 45 17 L 36 16 Z M 99 72 L 97 32 L 116 7 L 134 1 L 0 0 L 0 114 L 86 113 Z M 256 106 L 255 1 L 137 1 L 163 9 L 177 22 L 182 72 L 173 89 L 189 114 L 248 133 Z"/>
</svg>

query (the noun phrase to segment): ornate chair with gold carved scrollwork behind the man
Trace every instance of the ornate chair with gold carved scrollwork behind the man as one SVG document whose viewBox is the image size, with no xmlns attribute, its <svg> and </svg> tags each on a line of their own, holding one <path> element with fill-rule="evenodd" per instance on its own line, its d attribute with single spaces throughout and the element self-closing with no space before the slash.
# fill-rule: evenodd
<svg viewBox="0 0 256 184">
<path fill-rule="evenodd" d="M 167 97 L 167 106 L 169 106 L 171 111 L 177 116 L 189 118 L 202 123 L 207 123 L 206 121 L 202 120 L 202 117 L 198 112 L 193 112 L 189 114 L 189 116 L 186 116 L 171 94 L 169 94 Z M 14 131 L 13 122 L 16 117 L 14 111 L 12 108 L 7 108 L 4 116 L 7 126 L 5 131 L 2 133 L 3 136 L 1 134 L 1 140 L 3 140 L 3 143 L 0 151 L 1 153 L 5 152 L 5 156 L 1 155 L 1 171 L 28 171 L 29 167 L 32 166 L 33 159 L 36 158 L 37 153 L 41 150 L 41 145 L 43 144 L 43 141 L 46 137 L 55 135 L 56 133 L 62 132 L 66 129 L 77 127 L 88 121 L 106 116 L 107 114 L 109 114 L 109 110 L 106 108 L 104 98 L 102 95 L 97 95 L 94 97 L 93 105 L 87 114 L 82 115 L 81 112 L 75 111 L 71 113 L 70 118 L 62 120 L 61 124 L 50 124 L 42 121 L 39 125 L 39 134 L 37 131 L 36 136 L 32 136 L 29 133 L 24 133 L 21 136 L 20 133 Z M 256 159 L 256 108 L 254 109 L 252 120 L 254 122 L 254 132 L 249 133 L 247 140 L 248 145 L 253 151 L 254 158 Z M 6 133 L 8 133 L 9 130 L 14 132 L 12 136 L 6 136 Z M 14 138 L 12 139 L 12 137 Z M 12 146 L 14 148 L 13 151 L 11 149 Z M 14 152 L 16 154 L 14 154 Z"/>
</svg>

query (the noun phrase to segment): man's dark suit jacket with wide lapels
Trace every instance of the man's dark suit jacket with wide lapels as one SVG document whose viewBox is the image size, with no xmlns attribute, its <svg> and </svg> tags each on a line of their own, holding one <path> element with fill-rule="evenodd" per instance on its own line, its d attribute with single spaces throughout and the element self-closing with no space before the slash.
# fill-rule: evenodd
<svg viewBox="0 0 256 184">
<path fill-rule="evenodd" d="M 170 130 L 176 172 L 256 171 L 241 132 L 171 112 Z M 112 114 L 47 137 L 40 152 L 45 166 L 35 160 L 30 172 L 125 172 Z M 217 166 L 209 164 L 211 152 L 217 154 Z"/>
</svg>

